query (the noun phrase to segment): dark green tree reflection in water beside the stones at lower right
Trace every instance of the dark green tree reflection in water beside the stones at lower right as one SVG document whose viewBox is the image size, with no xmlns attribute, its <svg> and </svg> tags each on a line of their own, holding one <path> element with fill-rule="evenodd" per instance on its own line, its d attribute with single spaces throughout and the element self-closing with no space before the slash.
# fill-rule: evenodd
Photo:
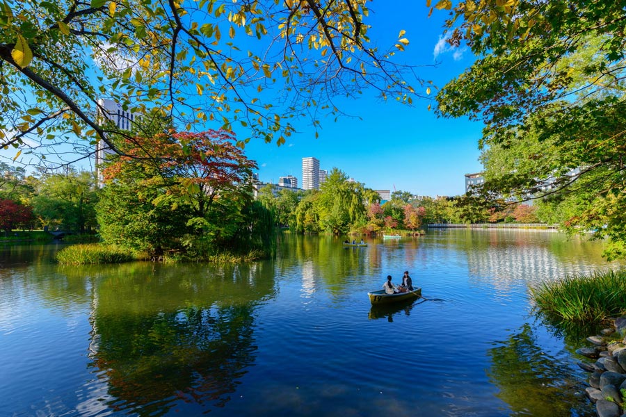
<svg viewBox="0 0 626 417">
<path fill-rule="evenodd" d="M 513 415 L 593 415 L 588 402 L 575 396 L 582 389 L 581 382 L 571 376 L 567 363 L 559 363 L 536 345 L 530 325 L 488 354 L 492 366 L 487 375 L 500 389 L 497 397 L 511 406 Z"/>
</svg>

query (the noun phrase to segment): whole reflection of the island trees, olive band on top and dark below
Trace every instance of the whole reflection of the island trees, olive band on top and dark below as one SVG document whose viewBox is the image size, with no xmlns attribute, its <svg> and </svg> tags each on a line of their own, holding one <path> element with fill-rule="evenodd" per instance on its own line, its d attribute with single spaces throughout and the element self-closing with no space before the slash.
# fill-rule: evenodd
<svg viewBox="0 0 626 417">
<path fill-rule="evenodd" d="M 223 407 L 254 362 L 255 306 L 273 279 L 192 271 L 109 276 L 98 286 L 91 357 L 111 409 L 160 416 L 180 401 Z"/>
</svg>

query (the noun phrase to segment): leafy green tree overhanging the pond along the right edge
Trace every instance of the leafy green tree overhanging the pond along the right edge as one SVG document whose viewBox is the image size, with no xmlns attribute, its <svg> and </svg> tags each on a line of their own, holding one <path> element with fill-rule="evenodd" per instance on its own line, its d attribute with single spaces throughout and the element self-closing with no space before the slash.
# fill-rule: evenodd
<svg viewBox="0 0 626 417">
<path fill-rule="evenodd" d="M 440 115 L 485 122 L 485 190 L 567 204 L 563 227 L 609 238 L 609 259 L 626 256 L 623 6 L 461 1 L 449 40 L 481 58 L 438 94 Z"/>
</svg>

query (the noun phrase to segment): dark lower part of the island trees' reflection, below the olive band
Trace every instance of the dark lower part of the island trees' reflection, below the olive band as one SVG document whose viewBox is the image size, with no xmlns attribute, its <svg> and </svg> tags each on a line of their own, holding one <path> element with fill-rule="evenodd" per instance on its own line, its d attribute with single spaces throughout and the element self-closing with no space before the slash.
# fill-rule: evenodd
<svg viewBox="0 0 626 417">
<path fill-rule="evenodd" d="M 106 370 L 113 409 L 166 414 L 175 400 L 221 407 L 254 361 L 251 306 L 130 318 L 100 317 L 94 366 Z"/>
</svg>

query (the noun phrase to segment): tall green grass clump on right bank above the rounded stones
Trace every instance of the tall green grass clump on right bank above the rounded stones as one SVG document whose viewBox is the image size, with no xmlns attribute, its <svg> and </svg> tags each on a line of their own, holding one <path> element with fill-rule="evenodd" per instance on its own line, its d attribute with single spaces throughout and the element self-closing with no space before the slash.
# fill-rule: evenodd
<svg viewBox="0 0 626 417">
<path fill-rule="evenodd" d="M 574 275 L 531 287 L 540 313 L 565 322 L 601 322 L 626 313 L 626 270 Z"/>
</svg>

